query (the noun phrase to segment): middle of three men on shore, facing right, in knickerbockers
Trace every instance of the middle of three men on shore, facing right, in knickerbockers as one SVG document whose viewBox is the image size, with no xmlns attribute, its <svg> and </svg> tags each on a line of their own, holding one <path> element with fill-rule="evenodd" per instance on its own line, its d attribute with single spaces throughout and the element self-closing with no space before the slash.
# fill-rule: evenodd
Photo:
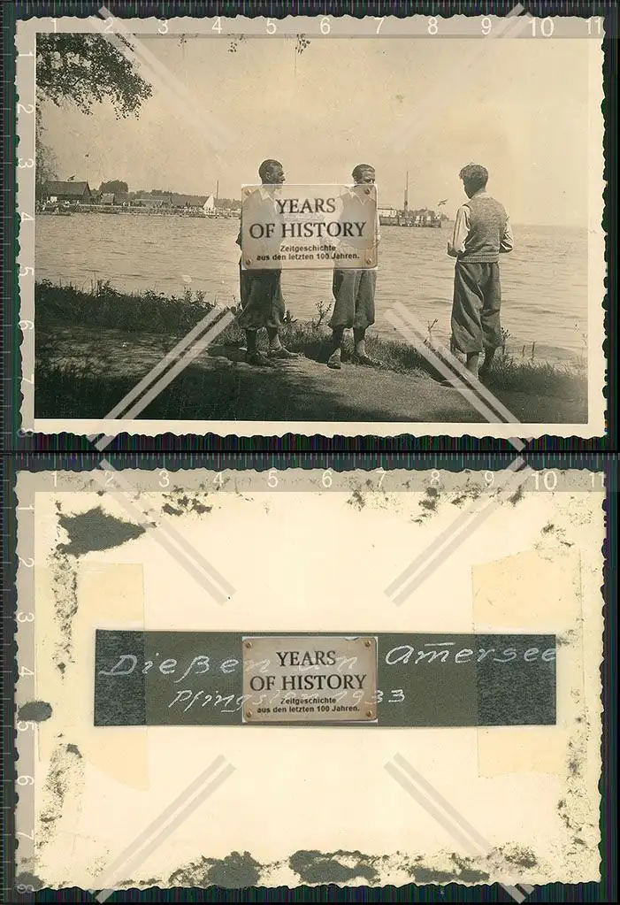
<svg viewBox="0 0 620 905">
<path fill-rule="evenodd" d="M 358 164 L 351 174 L 356 186 L 372 186 L 375 183 L 375 167 Z M 379 240 L 379 218 L 377 214 L 377 242 Z M 333 351 L 328 359 L 328 367 L 341 367 L 342 343 L 345 329 L 353 328 L 355 356 L 359 365 L 379 366 L 366 354 L 366 331 L 375 323 L 375 291 L 377 289 L 377 268 L 371 271 L 334 270 L 332 291 L 335 305 L 329 320 L 333 338 Z"/>
</svg>

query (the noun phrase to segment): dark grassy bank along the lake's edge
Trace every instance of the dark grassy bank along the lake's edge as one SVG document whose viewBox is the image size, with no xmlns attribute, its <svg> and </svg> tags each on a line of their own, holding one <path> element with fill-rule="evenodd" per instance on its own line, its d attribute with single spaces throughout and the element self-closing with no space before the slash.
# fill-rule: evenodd
<svg viewBox="0 0 620 905">
<path fill-rule="evenodd" d="M 91 291 L 81 291 L 71 285 L 37 283 L 37 416 L 103 416 L 138 382 L 140 368 L 136 356 L 140 346 L 145 352 L 144 367 L 141 369 L 143 375 L 155 364 L 151 360 L 154 354 L 158 357 L 165 355 L 214 307 L 203 293 L 190 290 L 181 297 L 167 297 L 156 292 L 119 292 L 109 283 L 101 281 L 93 283 Z M 231 310 L 237 313 L 237 309 Z M 313 361 L 325 362 L 330 350 L 330 331 L 326 327 L 329 306 L 318 304 L 316 317 L 310 321 L 294 320 L 290 315 L 287 318 L 282 333 L 285 345 Z M 432 337 L 432 330 L 429 333 Z M 548 364 L 537 360 L 533 350 L 527 356 L 525 349 L 512 354 L 510 338 L 508 340 L 493 364 L 488 380 L 491 392 L 502 401 L 504 394 L 522 394 L 532 398 L 557 399 L 558 407 L 562 409 L 567 403 L 577 405 L 579 410 L 583 408 L 587 398 L 587 371 L 583 361 Z M 220 349 L 240 350 L 244 341 L 243 331 L 234 322 L 218 336 L 216 344 Z M 123 347 L 131 350 L 131 356 L 127 358 L 133 360 L 128 360 L 127 364 L 118 354 Z M 405 341 L 371 333 L 367 350 L 384 363 L 382 370 L 386 372 L 438 376 L 433 373 L 424 355 Z M 345 352 L 350 351 L 349 345 Z M 233 355 L 231 360 L 239 360 L 239 356 Z M 196 374 L 189 382 L 188 376 L 184 378 L 182 375 L 167 387 L 164 394 L 167 397 L 166 415 L 155 414 L 156 411 L 163 413 L 162 400 L 158 407 L 145 412 L 145 416 L 199 417 L 198 414 L 191 414 L 191 403 L 186 396 L 188 386 L 190 390 L 196 387 Z M 222 386 L 219 388 L 221 391 Z M 194 392 L 196 390 L 192 390 L 192 395 Z M 175 402 L 177 395 L 179 398 Z M 564 405 L 559 405 L 561 401 Z M 509 405 L 509 402 L 506 404 Z M 177 405 L 181 405 L 182 413 L 176 408 Z M 223 412 L 225 405 L 223 399 Z M 178 414 L 171 414 L 175 410 Z M 229 415 L 217 416 L 226 418 Z M 529 420 L 537 419 L 532 416 Z"/>
</svg>

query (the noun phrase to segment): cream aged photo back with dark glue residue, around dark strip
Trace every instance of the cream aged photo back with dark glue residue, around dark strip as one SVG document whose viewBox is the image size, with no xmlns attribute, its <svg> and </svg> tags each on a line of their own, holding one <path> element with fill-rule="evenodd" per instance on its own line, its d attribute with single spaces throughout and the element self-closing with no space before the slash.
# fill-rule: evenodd
<svg viewBox="0 0 620 905">
<path fill-rule="evenodd" d="M 21 473 L 24 883 L 596 881 L 602 477 Z M 96 629 L 555 634 L 557 724 L 95 728 Z"/>
</svg>

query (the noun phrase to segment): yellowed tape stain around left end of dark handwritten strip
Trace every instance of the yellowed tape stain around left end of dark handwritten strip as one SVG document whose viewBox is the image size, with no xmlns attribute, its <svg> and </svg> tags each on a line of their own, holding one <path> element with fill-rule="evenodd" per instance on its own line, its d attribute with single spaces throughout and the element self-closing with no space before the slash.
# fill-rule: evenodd
<svg viewBox="0 0 620 905">
<path fill-rule="evenodd" d="M 37 570 L 37 688 L 52 705 L 39 725 L 39 757 L 62 744 L 119 783 L 148 788 L 146 727 L 93 726 L 95 630 L 144 628 L 139 563 L 67 563 Z"/>
</svg>

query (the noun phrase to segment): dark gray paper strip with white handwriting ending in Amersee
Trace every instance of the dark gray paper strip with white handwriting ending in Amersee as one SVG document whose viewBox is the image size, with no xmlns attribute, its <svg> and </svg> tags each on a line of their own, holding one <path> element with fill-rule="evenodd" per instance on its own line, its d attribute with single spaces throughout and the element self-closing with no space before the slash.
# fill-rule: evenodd
<svg viewBox="0 0 620 905">
<path fill-rule="evenodd" d="M 94 725 L 252 725 L 243 723 L 243 638 L 248 635 L 296 635 L 311 638 L 312 643 L 320 638 L 327 647 L 335 636 L 356 636 L 350 631 L 317 635 L 98 630 Z M 555 635 L 377 633 L 374 637 L 377 720 L 368 727 L 556 722 Z M 316 716 L 308 722 L 282 722 L 298 727 L 325 725 Z"/>
</svg>

